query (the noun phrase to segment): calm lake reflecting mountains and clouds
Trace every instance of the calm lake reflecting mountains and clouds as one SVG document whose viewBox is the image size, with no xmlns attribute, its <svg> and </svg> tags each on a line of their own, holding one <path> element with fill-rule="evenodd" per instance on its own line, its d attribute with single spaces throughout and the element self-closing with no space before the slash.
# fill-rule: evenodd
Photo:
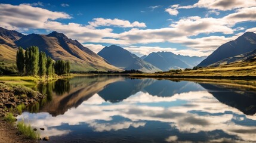
<svg viewBox="0 0 256 143">
<path fill-rule="evenodd" d="M 48 142 L 256 142 L 256 92 L 232 84 L 124 76 L 41 83 L 18 116 Z"/>
</svg>

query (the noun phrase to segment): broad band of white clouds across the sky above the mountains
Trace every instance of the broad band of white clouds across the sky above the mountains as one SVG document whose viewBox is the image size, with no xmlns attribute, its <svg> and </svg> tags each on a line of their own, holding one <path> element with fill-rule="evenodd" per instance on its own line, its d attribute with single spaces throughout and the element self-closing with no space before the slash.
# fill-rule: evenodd
<svg viewBox="0 0 256 143">
<path fill-rule="evenodd" d="M 184 8 L 184 6 L 180 5 L 172 5 L 169 8 L 172 10 L 178 10 L 178 8 L 181 7 Z M 186 6 L 186 8 L 189 7 L 192 6 Z M 100 49 L 103 48 L 103 46 L 98 43 L 109 43 L 125 46 L 125 48 L 137 54 L 147 54 L 148 51 L 146 50 L 150 50 L 150 48 L 146 46 L 140 46 L 141 49 L 132 48 L 131 45 L 135 45 L 137 43 L 144 44 L 161 42 L 180 43 L 181 45 L 187 46 L 189 49 L 179 51 L 171 47 L 151 47 L 151 49 L 156 51 L 172 51 L 175 54 L 186 54 L 189 52 L 186 55 L 210 54 L 218 48 L 218 46 L 233 40 L 232 38 L 236 38 L 237 36 L 205 36 L 203 38 L 191 38 L 191 36 L 198 36 L 202 33 L 223 33 L 224 35 L 233 34 L 235 31 L 243 30 L 242 28 L 233 28 L 237 23 L 256 21 L 256 7 L 236 9 L 233 13 L 221 18 L 202 18 L 195 16 L 183 17 L 178 21 L 172 20 L 169 27 L 159 29 L 138 29 L 146 27 L 146 24 L 138 21 L 130 22 L 128 20 L 120 20 L 118 18 L 94 18 L 88 25 L 78 23 L 60 23 L 56 20 L 72 17 L 63 12 L 49 11 L 25 4 L 0 4 L 0 13 L 0 25 L 10 30 L 55 30 L 64 33 L 69 38 L 77 39 L 81 43 L 90 43 L 85 44 L 85 46 L 88 46 L 95 52 L 100 51 Z M 114 33 L 111 28 L 98 29 L 98 27 L 102 26 L 129 27 L 132 29 L 121 33 Z M 92 45 L 92 43 L 97 44 Z"/>
</svg>

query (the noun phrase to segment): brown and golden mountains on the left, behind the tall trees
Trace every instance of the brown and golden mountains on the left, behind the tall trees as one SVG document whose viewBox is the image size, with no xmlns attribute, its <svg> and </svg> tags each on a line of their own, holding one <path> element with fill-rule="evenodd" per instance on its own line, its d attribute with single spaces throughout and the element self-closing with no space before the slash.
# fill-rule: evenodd
<svg viewBox="0 0 256 143">
<path fill-rule="evenodd" d="M 44 51 L 53 60 L 69 60 L 71 71 L 121 71 L 78 41 L 67 38 L 63 33 L 52 32 L 48 35 L 30 34 L 25 36 L 3 28 L 0 33 L 1 61 L 15 62 L 18 46 L 24 49 L 29 46 L 38 46 L 39 51 Z"/>
</svg>

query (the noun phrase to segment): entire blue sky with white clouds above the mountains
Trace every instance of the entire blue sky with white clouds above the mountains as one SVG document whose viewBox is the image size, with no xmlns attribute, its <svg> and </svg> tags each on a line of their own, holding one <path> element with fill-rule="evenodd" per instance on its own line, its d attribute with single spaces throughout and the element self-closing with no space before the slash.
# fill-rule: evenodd
<svg viewBox="0 0 256 143">
<path fill-rule="evenodd" d="M 209 55 L 256 31 L 254 0 L 0 1 L 0 26 L 24 34 L 64 33 L 94 52 L 120 45 L 139 56 L 157 51 Z"/>
</svg>

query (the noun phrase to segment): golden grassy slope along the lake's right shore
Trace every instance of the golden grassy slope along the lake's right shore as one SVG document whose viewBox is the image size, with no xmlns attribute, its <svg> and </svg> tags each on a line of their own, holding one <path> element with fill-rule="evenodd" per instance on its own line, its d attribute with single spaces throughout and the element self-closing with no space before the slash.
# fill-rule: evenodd
<svg viewBox="0 0 256 143">
<path fill-rule="evenodd" d="M 137 77 L 193 77 L 193 78 L 256 78 L 256 61 L 237 62 L 198 70 L 172 70 L 151 74 L 131 74 Z"/>
</svg>

